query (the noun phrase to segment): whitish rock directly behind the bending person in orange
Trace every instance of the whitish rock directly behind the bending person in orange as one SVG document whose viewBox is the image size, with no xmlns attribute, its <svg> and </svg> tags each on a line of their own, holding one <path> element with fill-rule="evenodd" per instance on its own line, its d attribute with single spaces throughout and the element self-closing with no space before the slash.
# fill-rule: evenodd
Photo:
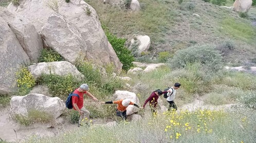
<svg viewBox="0 0 256 143">
<path fill-rule="evenodd" d="M 117 90 L 114 94 L 114 98 L 116 100 L 120 100 L 120 99 L 130 99 L 133 103 L 139 105 L 139 99 L 136 96 L 136 94 L 134 92 L 129 92 L 129 91 L 125 91 L 125 90 Z M 138 112 L 139 108 L 135 107 L 133 105 L 129 105 L 126 108 L 126 114 L 130 115 L 133 114 L 135 112 Z"/>
</svg>

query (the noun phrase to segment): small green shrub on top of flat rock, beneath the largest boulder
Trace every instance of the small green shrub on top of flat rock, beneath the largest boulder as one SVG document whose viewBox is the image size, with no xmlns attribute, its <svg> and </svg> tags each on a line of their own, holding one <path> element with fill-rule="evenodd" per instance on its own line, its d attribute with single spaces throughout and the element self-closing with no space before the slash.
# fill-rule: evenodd
<svg viewBox="0 0 256 143">
<path fill-rule="evenodd" d="M 43 49 L 42 54 L 39 57 L 39 62 L 54 62 L 63 60 L 64 59 L 61 57 L 61 55 L 52 49 Z"/>
</svg>

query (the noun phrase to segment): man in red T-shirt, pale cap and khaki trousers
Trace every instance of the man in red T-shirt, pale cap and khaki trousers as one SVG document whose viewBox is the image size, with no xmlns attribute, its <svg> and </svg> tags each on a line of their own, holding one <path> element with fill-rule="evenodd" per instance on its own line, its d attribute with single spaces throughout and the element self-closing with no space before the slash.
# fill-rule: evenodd
<svg viewBox="0 0 256 143">
<path fill-rule="evenodd" d="M 82 121 L 88 121 L 90 112 L 84 108 L 84 97 L 83 94 L 86 94 L 87 96 L 91 97 L 94 101 L 98 101 L 97 98 L 95 98 L 89 91 L 89 87 L 87 84 L 82 84 L 79 88 L 77 88 L 73 93 L 78 94 L 79 98 L 76 96 L 72 96 L 72 105 L 73 109 L 77 110 L 80 114 L 79 118 L 79 125 L 82 125 Z M 87 122 L 85 122 L 87 123 Z M 88 123 L 87 123 L 88 124 Z"/>
</svg>

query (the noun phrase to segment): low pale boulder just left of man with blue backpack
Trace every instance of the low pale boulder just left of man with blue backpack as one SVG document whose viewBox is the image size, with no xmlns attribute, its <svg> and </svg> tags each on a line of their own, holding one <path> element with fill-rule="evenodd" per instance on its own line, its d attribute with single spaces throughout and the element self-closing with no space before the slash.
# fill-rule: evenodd
<svg viewBox="0 0 256 143">
<path fill-rule="evenodd" d="M 13 114 L 27 115 L 30 110 L 40 110 L 49 113 L 54 118 L 59 117 L 66 108 L 60 98 L 50 98 L 43 94 L 15 96 L 11 98 L 10 103 Z"/>
</svg>

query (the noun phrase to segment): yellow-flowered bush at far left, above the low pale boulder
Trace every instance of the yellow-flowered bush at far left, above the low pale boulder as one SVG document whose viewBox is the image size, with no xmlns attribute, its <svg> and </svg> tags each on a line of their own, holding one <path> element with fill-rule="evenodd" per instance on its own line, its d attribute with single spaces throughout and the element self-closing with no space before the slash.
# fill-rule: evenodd
<svg viewBox="0 0 256 143">
<path fill-rule="evenodd" d="M 34 77 L 29 73 L 28 68 L 24 66 L 16 72 L 16 79 L 17 93 L 22 96 L 26 95 L 35 85 Z"/>
</svg>

